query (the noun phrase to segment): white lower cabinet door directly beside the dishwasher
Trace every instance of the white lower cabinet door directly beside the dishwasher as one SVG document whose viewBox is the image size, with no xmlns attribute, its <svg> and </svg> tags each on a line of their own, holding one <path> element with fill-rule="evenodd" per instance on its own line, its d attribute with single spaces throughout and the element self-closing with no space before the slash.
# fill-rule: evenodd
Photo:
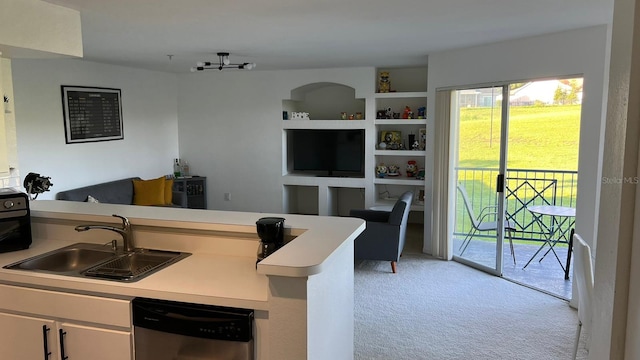
<svg viewBox="0 0 640 360">
<path fill-rule="evenodd" d="M 132 358 L 131 333 L 61 323 L 58 335 L 62 337 L 60 353 L 68 360 L 130 360 Z"/>
</svg>

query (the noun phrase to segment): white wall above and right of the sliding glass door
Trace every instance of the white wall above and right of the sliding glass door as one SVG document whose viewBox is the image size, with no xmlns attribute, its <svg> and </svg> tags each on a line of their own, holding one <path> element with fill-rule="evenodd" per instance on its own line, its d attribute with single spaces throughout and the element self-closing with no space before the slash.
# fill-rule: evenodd
<svg viewBox="0 0 640 360">
<path fill-rule="evenodd" d="M 590 244 L 594 243 L 597 233 L 607 43 L 607 26 L 602 25 L 429 56 L 429 91 L 432 95 L 438 88 L 584 76 L 576 232 Z M 434 118 L 434 109 L 435 96 L 431 96 L 428 119 Z M 431 139 L 427 143 L 433 144 L 433 132 L 429 135 Z M 428 159 L 428 162 L 433 164 L 433 159 Z"/>
</svg>

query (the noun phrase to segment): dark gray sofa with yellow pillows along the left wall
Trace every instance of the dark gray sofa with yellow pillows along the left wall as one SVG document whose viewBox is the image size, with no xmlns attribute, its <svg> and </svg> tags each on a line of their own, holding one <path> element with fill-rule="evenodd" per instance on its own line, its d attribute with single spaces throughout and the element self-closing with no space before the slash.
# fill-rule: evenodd
<svg viewBox="0 0 640 360">
<path fill-rule="evenodd" d="M 140 180 L 139 177 L 133 177 L 60 191 L 56 194 L 56 200 L 86 202 L 91 196 L 101 203 L 131 205 L 134 179 Z M 187 194 L 182 191 L 173 191 L 172 202 L 174 207 L 187 207 Z"/>
</svg>

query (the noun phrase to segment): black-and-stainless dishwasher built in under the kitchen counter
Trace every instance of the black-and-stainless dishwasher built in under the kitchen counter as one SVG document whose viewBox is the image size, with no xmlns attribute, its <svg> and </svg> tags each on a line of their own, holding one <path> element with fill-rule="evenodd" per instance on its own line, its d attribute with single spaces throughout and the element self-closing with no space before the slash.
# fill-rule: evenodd
<svg viewBox="0 0 640 360">
<path fill-rule="evenodd" d="M 254 360 L 253 310 L 135 298 L 136 360 Z"/>
</svg>

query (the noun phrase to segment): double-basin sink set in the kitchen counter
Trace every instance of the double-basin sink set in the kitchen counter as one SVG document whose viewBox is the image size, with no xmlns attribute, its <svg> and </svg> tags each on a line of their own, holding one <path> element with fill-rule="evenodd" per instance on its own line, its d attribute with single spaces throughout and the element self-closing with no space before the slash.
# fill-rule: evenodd
<svg viewBox="0 0 640 360">
<path fill-rule="evenodd" d="M 4 268 L 133 282 L 189 255 L 191 254 L 149 249 L 123 252 L 106 245 L 76 243 Z"/>
</svg>

